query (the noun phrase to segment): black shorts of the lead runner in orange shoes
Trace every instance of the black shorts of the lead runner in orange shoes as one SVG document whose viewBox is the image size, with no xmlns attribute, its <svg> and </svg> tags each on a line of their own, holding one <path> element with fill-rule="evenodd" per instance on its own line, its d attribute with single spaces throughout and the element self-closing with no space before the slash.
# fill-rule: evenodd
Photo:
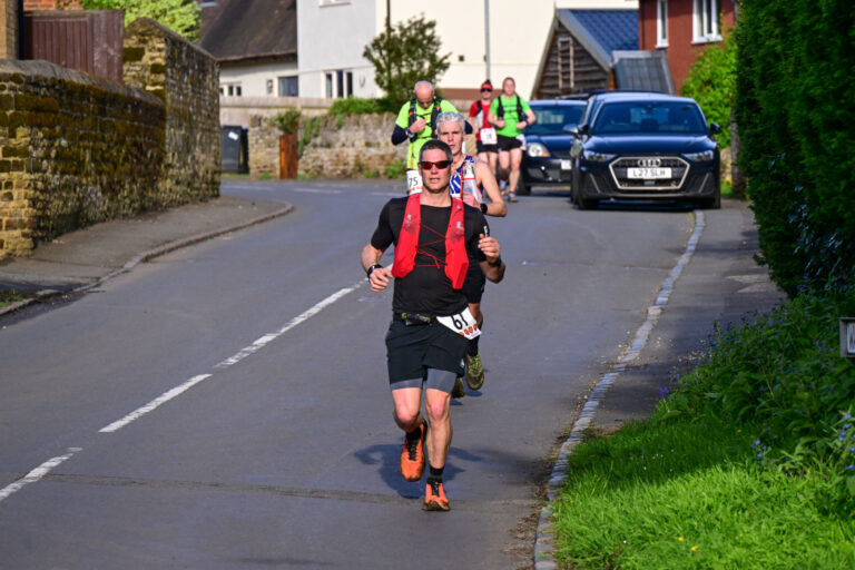
<svg viewBox="0 0 855 570">
<path fill-rule="evenodd" d="M 386 363 L 389 383 L 424 379 L 428 368 L 464 373 L 463 356 L 469 341 L 454 331 L 433 322 L 426 325 L 405 325 L 392 320 L 386 333 Z"/>
</svg>

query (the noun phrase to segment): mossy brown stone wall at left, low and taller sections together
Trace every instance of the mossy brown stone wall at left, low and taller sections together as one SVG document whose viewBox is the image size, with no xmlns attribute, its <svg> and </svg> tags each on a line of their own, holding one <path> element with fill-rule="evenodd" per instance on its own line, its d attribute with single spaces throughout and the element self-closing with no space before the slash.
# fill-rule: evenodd
<svg viewBox="0 0 855 570">
<path fill-rule="evenodd" d="M 125 33 L 126 86 L 0 60 L 0 258 L 219 194 L 218 67 L 157 22 Z"/>
</svg>

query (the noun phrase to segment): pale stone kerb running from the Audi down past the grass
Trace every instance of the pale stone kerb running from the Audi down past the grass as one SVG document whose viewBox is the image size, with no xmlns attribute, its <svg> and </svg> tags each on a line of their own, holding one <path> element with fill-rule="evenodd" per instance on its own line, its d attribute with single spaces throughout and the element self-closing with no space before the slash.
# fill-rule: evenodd
<svg viewBox="0 0 855 570">
<path fill-rule="evenodd" d="M 600 402 L 605 399 L 612 384 L 615 384 L 617 377 L 626 371 L 629 363 L 640 356 L 641 350 L 647 344 L 650 333 L 662 314 L 662 308 L 667 305 L 668 299 L 674 292 L 674 285 L 677 278 L 691 259 L 705 227 L 704 213 L 696 210 L 695 228 L 686 244 L 686 250 L 677 261 L 677 264 L 674 266 L 668 277 L 662 282 L 656 301 L 647 309 L 647 318 L 638 331 L 636 331 L 636 336 L 630 345 L 618 357 L 618 362 L 611 367 L 611 371 L 605 373 L 600 377 L 597 385 L 588 395 L 588 401 L 579 413 L 579 417 L 573 422 L 570 435 L 559 450 L 558 458 L 552 466 L 552 473 L 547 483 L 547 500 L 549 504 L 541 509 L 538 519 L 538 528 L 534 538 L 534 570 L 556 570 L 558 568 L 557 562 L 553 560 L 556 533 L 552 520 L 552 504 L 558 500 L 559 492 L 567 480 L 567 469 L 570 464 L 570 455 L 573 453 L 577 445 L 584 440 L 584 431 L 591 425 Z"/>
</svg>

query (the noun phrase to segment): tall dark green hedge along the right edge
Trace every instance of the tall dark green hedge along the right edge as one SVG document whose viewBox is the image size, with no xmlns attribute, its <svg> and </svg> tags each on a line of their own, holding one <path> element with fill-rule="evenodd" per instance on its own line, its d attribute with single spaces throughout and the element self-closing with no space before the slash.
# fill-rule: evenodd
<svg viewBox="0 0 855 570">
<path fill-rule="evenodd" d="M 855 2 L 743 0 L 737 120 L 763 261 L 790 296 L 855 282 Z"/>
</svg>

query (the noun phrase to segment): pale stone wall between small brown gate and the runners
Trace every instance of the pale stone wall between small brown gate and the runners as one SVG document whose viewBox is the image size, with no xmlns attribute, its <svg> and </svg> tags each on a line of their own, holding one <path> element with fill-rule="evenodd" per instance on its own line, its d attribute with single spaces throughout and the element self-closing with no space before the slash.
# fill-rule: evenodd
<svg viewBox="0 0 855 570">
<path fill-rule="evenodd" d="M 299 158 L 298 175 L 321 178 L 361 178 L 379 174 L 394 160 L 406 159 L 406 144 L 392 145 L 395 116 L 352 115 L 323 117 L 317 136 Z"/>
</svg>

